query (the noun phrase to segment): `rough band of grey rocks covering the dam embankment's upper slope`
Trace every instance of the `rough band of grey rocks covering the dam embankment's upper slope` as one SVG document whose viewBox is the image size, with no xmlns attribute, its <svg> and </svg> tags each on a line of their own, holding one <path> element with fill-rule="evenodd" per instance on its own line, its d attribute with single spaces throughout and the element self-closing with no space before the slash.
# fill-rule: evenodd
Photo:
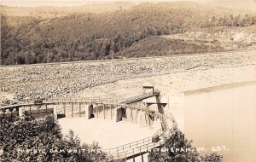
<svg viewBox="0 0 256 162">
<path fill-rule="evenodd" d="M 198 68 L 247 66 L 254 65 L 255 62 L 256 51 L 251 50 L 211 55 L 1 67 L 0 94 L 14 94 L 14 101 L 72 96 L 86 88 L 129 78 L 150 77 Z M 2 101 L 6 100 L 3 98 Z"/>
</svg>

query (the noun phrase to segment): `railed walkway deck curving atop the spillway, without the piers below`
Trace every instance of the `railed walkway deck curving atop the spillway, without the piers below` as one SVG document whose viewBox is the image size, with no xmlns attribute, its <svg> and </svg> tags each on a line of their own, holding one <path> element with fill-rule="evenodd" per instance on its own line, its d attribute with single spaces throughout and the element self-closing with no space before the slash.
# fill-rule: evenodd
<svg viewBox="0 0 256 162">
<path fill-rule="evenodd" d="M 0 107 L 0 111 L 3 114 L 11 113 L 13 116 L 13 113 L 16 113 L 16 114 L 20 113 L 20 107 L 29 107 L 30 111 L 32 110 L 32 107 L 37 107 L 37 109 L 39 109 L 38 107 L 45 107 L 47 111 L 48 105 L 53 105 L 53 106 L 65 105 L 65 106 L 72 107 L 71 112 L 73 114 L 74 104 L 79 105 L 79 117 L 81 117 L 81 109 L 80 109 L 81 104 L 86 104 L 86 105 L 95 104 L 95 105 L 108 105 L 111 107 L 115 107 L 116 109 L 119 109 L 121 107 L 125 107 L 126 109 L 131 109 L 131 110 L 136 109 L 137 111 L 142 111 L 147 115 L 152 115 L 155 118 L 160 119 L 160 123 L 162 126 L 160 130 L 154 133 L 154 136 L 149 136 L 137 142 L 127 143 L 117 148 L 102 150 L 113 159 L 135 160 L 137 156 L 142 156 L 143 158 L 144 153 L 148 153 L 153 148 L 162 147 L 163 144 L 165 143 L 166 138 L 168 138 L 169 136 L 172 136 L 172 132 L 174 130 L 177 130 L 177 124 L 174 117 L 172 116 L 172 113 L 155 112 L 152 110 L 148 110 L 148 108 L 145 108 L 145 107 L 131 107 L 129 105 L 121 104 L 119 103 L 119 101 L 113 101 L 108 99 L 102 100 L 102 99 L 96 99 L 96 98 L 80 98 L 80 99 L 52 98 L 52 99 L 49 99 L 48 101 L 43 101 L 42 103 L 35 103 L 31 101 L 31 102 L 24 102 L 24 103 L 19 103 L 15 105 Z M 55 112 L 55 111 L 56 110 L 52 112 Z M 116 113 L 118 113 L 118 111 Z M 72 118 L 73 118 L 73 115 L 72 115 Z"/>
</svg>

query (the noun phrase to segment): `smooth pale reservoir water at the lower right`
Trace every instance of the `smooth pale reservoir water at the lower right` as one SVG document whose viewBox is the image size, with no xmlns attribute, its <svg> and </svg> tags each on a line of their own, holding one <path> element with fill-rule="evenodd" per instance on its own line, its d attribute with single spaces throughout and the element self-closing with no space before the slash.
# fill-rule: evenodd
<svg viewBox="0 0 256 162">
<path fill-rule="evenodd" d="M 256 82 L 184 93 L 184 133 L 203 153 L 256 161 Z"/>
</svg>

